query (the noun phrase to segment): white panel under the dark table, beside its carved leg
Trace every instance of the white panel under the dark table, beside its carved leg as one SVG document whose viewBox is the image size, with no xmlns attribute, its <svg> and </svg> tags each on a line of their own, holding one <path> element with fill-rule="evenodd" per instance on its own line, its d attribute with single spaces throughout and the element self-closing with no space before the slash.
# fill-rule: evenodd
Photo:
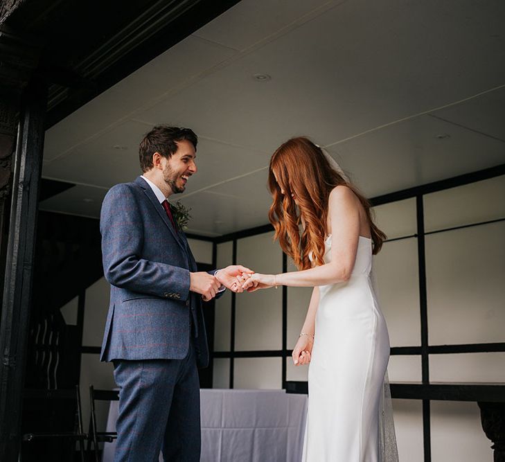
<svg viewBox="0 0 505 462">
<path fill-rule="evenodd" d="M 476 402 L 432 401 L 432 462 L 492 461 Z"/>
</svg>

